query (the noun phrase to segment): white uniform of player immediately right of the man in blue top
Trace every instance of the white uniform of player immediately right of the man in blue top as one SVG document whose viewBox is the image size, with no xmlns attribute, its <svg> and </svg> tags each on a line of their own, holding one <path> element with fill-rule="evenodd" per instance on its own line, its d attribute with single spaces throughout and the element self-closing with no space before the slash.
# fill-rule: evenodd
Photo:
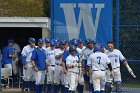
<svg viewBox="0 0 140 93">
<path fill-rule="evenodd" d="M 47 48 L 45 50 L 47 62 L 50 63 L 48 66 L 48 73 L 47 73 L 47 84 L 54 83 L 54 71 L 55 71 L 55 49 L 52 50 L 51 48 Z"/>
</svg>

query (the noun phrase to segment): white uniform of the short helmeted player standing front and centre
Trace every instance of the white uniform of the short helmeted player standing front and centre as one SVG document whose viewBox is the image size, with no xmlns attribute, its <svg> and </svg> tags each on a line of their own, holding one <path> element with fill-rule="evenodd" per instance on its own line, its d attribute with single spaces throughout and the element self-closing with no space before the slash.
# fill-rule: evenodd
<svg viewBox="0 0 140 93">
<path fill-rule="evenodd" d="M 69 90 L 75 91 L 78 85 L 78 57 L 72 56 L 71 54 L 66 58 L 66 65 L 73 65 L 73 68 L 68 68 L 67 77 L 68 77 L 68 84 Z"/>
</svg>

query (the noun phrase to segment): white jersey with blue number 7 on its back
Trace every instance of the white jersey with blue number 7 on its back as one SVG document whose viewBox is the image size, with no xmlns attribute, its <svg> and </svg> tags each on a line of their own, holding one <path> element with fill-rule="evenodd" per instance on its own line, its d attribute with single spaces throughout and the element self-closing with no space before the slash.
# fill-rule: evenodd
<svg viewBox="0 0 140 93">
<path fill-rule="evenodd" d="M 87 65 L 92 66 L 93 71 L 105 71 L 107 64 L 110 63 L 108 56 L 101 52 L 91 54 L 87 60 Z"/>
</svg>

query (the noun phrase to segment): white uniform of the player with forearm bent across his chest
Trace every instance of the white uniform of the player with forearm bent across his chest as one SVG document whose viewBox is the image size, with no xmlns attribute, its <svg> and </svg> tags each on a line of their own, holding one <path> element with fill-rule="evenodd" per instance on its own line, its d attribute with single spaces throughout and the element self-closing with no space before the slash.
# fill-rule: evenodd
<svg viewBox="0 0 140 93">
<path fill-rule="evenodd" d="M 62 54 L 64 51 L 61 49 L 55 49 L 55 56 L 58 56 Z M 55 72 L 54 72 L 54 84 L 58 85 L 61 84 L 64 85 L 64 70 L 61 66 L 62 58 L 55 59 Z"/>
</svg>

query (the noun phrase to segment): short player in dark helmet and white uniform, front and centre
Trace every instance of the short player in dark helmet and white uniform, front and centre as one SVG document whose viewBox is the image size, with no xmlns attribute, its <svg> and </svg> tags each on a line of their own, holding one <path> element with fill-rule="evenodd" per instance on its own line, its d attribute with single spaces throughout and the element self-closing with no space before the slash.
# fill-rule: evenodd
<svg viewBox="0 0 140 93">
<path fill-rule="evenodd" d="M 78 85 L 78 62 L 79 58 L 76 56 L 76 47 L 70 46 L 69 53 L 70 55 L 66 58 L 66 66 L 68 69 L 67 77 L 69 84 L 69 93 L 75 93 Z"/>
</svg>

